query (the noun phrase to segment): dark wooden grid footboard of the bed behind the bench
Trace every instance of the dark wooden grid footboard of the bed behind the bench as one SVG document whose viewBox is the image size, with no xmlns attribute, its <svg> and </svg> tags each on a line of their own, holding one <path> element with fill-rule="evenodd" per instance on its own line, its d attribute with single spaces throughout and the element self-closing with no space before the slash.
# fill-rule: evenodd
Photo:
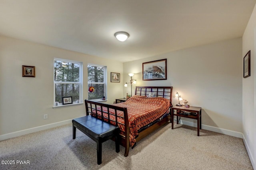
<svg viewBox="0 0 256 170">
<path fill-rule="evenodd" d="M 86 108 L 86 115 L 97 114 L 96 118 L 101 119 L 104 122 L 108 122 L 110 124 L 112 124 L 111 122 L 115 122 L 116 126 L 118 126 L 118 124 L 122 124 L 120 122 L 117 123 L 118 118 L 121 118 L 124 120 L 124 124 L 122 124 L 122 125 L 124 125 L 124 134 L 125 135 L 120 134 L 120 136 L 121 136 L 120 143 L 125 148 L 124 156 L 128 156 L 129 149 L 130 149 L 130 139 L 129 139 L 130 130 L 129 130 L 127 108 L 122 108 L 122 107 L 114 106 L 114 105 L 110 105 L 110 104 L 103 104 L 100 102 L 93 102 L 90 100 L 84 100 L 84 103 L 85 103 L 85 108 Z M 103 107 L 107 108 L 107 112 L 105 112 L 102 109 Z M 110 113 L 109 109 L 113 109 L 115 114 Z M 124 116 L 117 115 L 117 111 L 124 112 Z M 108 114 L 108 117 L 105 117 L 103 114 Z M 110 119 L 110 115 L 114 115 L 115 120 Z"/>
</svg>

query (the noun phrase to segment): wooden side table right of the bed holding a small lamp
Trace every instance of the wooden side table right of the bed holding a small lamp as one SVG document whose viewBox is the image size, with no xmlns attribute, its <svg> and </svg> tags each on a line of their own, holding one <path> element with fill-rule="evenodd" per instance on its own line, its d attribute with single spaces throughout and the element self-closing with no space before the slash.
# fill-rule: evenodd
<svg viewBox="0 0 256 170">
<path fill-rule="evenodd" d="M 174 110 L 176 110 L 176 114 L 174 114 Z M 189 112 L 191 114 L 179 114 L 177 111 L 184 111 Z M 185 106 L 173 106 L 171 109 L 171 118 L 172 118 L 172 129 L 173 129 L 173 122 L 174 122 L 174 115 L 177 116 L 177 124 L 179 124 L 178 117 L 184 117 L 184 118 L 190 118 L 190 119 L 196 119 L 197 120 L 197 136 L 199 136 L 199 130 L 202 129 L 202 108 L 200 107 L 194 107 L 190 106 L 189 108 L 186 108 Z"/>
</svg>

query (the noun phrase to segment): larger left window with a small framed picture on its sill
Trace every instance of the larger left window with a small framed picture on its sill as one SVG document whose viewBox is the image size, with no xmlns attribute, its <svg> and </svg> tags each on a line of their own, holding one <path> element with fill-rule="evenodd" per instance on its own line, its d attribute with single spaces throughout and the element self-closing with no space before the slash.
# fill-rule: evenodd
<svg viewBox="0 0 256 170">
<path fill-rule="evenodd" d="M 82 62 L 54 58 L 54 103 L 69 96 L 82 102 Z"/>
</svg>

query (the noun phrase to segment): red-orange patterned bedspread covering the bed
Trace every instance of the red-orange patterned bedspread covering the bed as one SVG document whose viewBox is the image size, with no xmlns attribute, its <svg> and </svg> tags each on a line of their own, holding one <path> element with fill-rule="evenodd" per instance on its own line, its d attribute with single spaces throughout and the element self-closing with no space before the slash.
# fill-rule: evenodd
<svg viewBox="0 0 256 170">
<path fill-rule="evenodd" d="M 138 136 L 138 131 L 147 126 L 148 124 L 154 122 L 158 118 L 164 115 L 169 107 L 170 100 L 166 98 L 146 98 L 146 96 L 132 96 L 126 102 L 114 104 L 116 106 L 127 108 L 129 128 L 130 128 L 130 146 L 132 148 L 136 145 L 136 137 Z M 104 111 L 107 108 L 103 107 Z M 110 112 L 113 111 L 110 109 Z M 123 112 L 119 112 L 118 115 L 122 116 Z M 92 115 L 95 116 L 95 115 Z M 112 120 L 114 120 L 113 115 L 111 115 Z M 118 118 L 118 122 L 124 123 L 124 120 Z M 121 133 L 124 134 L 124 126 L 118 124 Z"/>
</svg>

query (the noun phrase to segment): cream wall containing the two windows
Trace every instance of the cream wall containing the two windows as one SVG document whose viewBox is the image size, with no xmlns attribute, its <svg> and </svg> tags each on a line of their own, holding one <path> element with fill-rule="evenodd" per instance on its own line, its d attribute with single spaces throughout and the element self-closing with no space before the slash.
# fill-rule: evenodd
<svg viewBox="0 0 256 170">
<path fill-rule="evenodd" d="M 88 63 L 108 67 L 106 103 L 112 104 L 122 96 L 123 84 L 110 82 L 110 72 L 120 73 L 123 81 L 121 62 L 0 36 L 0 137 L 85 115 L 84 104 L 52 108 L 53 58 L 83 62 L 83 100 L 88 92 Z M 36 77 L 22 77 L 22 65 L 35 66 Z M 44 114 L 48 119 L 43 119 Z"/>
</svg>

